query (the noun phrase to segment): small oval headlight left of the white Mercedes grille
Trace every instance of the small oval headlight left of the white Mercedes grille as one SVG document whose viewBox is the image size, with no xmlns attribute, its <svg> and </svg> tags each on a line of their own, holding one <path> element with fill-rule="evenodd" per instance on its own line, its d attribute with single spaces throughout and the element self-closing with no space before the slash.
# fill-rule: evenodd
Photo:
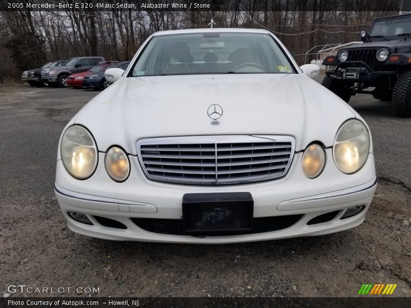
<svg viewBox="0 0 411 308">
<path fill-rule="evenodd" d="M 107 174 L 116 182 L 123 182 L 130 173 L 130 163 L 126 153 L 119 147 L 111 147 L 104 160 Z"/>
</svg>

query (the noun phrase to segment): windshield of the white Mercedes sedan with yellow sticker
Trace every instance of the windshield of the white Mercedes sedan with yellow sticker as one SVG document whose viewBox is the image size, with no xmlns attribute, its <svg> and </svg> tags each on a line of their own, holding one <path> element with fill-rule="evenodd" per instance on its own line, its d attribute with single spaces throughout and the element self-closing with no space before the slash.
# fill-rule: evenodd
<svg viewBox="0 0 411 308">
<path fill-rule="evenodd" d="M 154 36 L 130 76 L 295 73 L 265 33 L 204 32 Z"/>
</svg>

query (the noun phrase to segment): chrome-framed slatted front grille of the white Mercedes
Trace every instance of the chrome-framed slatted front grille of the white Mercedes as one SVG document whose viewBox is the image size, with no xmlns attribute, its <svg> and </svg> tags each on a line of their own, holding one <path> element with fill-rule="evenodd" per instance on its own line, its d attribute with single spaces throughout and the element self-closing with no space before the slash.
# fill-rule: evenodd
<svg viewBox="0 0 411 308">
<path fill-rule="evenodd" d="M 249 183 L 283 177 L 292 161 L 287 136 L 199 136 L 143 139 L 137 153 L 152 180 L 185 184 Z"/>
</svg>

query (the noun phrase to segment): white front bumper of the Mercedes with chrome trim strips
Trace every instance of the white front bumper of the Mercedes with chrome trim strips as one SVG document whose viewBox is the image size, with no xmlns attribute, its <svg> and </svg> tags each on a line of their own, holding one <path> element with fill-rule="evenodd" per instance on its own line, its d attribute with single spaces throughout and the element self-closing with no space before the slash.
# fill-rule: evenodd
<svg viewBox="0 0 411 308">
<path fill-rule="evenodd" d="M 326 149 L 326 152 L 327 157 L 332 157 L 331 149 Z M 332 159 L 328 160 L 323 174 L 314 180 L 302 174 L 301 158 L 301 152 L 295 153 L 288 174 L 281 179 L 240 185 L 197 186 L 148 180 L 134 156 L 129 156 L 129 178 L 124 183 L 114 182 L 104 170 L 104 153 L 99 153 L 95 174 L 84 181 L 71 178 L 62 162 L 58 161 L 55 196 L 71 230 L 110 240 L 236 243 L 323 235 L 361 224 L 377 186 L 373 155 L 370 153 L 364 167 L 355 175 L 342 174 Z M 132 218 L 180 219 L 182 196 L 186 193 L 240 191 L 251 193 L 254 218 L 286 215 L 302 215 L 302 218 L 291 226 L 273 232 L 204 238 L 149 232 L 132 221 Z M 357 205 L 364 206 L 359 214 L 340 219 L 347 208 Z M 73 220 L 68 216 L 68 211 L 86 214 L 93 225 Z M 332 211 L 338 211 L 338 214 L 331 220 L 307 224 L 314 217 Z M 116 220 L 127 228 L 104 226 L 95 216 Z"/>
</svg>

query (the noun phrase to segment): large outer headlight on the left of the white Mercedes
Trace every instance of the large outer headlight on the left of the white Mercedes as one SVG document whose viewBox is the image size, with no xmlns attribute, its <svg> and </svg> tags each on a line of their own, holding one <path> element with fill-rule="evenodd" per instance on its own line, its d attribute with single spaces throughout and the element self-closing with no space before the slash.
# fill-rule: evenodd
<svg viewBox="0 0 411 308">
<path fill-rule="evenodd" d="M 67 172 L 76 179 L 88 179 L 96 170 L 96 143 L 83 126 L 67 128 L 61 139 L 60 154 Z"/>
</svg>

